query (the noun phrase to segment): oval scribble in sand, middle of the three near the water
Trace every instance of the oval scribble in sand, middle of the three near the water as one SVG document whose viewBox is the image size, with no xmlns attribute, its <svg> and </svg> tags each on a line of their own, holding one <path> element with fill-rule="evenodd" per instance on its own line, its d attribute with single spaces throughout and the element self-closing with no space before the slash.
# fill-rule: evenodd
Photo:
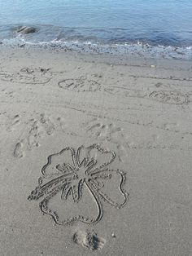
<svg viewBox="0 0 192 256">
<path fill-rule="evenodd" d="M 101 84 L 99 82 L 86 77 L 63 79 L 58 85 L 64 90 L 74 90 L 77 92 L 96 92 L 101 90 Z"/>
</svg>

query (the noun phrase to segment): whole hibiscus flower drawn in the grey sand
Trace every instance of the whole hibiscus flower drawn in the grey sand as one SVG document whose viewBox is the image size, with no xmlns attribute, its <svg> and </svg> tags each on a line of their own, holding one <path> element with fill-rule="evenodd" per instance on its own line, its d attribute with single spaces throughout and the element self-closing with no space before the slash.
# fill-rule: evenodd
<svg viewBox="0 0 192 256">
<path fill-rule="evenodd" d="M 107 168 L 115 158 L 115 152 L 104 150 L 97 144 L 81 146 L 77 150 L 64 148 L 48 157 L 37 188 L 28 200 L 41 198 L 41 211 L 60 225 L 77 221 L 98 223 L 103 217 L 102 200 L 120 209 L 128 198 L 123 189 L 124 172 Z M 83 213 L 80 213 L 79 204 L 83 205 Z M 73 208 L 76 208 L 75 212 Z M 92 214 L 94 217 L 90 216 L 90 209 L 96 211 Z"/>
</svg>

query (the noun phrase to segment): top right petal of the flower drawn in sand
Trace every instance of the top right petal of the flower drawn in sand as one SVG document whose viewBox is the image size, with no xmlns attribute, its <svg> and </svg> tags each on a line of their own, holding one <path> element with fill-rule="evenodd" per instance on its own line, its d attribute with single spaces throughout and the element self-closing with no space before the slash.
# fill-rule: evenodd
<svg viewBox="0 0 192 256">
<path fill-rule="evenodd" d="M 98 144 L 89 147 L 81 146 L 76 152 L 77 165 L 84 165 L 89 172 L 108 166 L 114 161 L 115 157 L 115 152 L 104 150 Z"/>
</svg>

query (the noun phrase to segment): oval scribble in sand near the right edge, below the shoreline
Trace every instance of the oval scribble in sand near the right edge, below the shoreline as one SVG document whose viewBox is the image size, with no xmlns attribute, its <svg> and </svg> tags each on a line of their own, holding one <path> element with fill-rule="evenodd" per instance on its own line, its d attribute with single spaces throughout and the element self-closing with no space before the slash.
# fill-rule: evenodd
<svg viewBox="0 0 192 256">
<path fill-rule="evenodd" d="M 180 91 L 171 91 L 171 90 L 155 90 L 152 91 L 149 95 L 150 99 L 159 101 L 164 104 L 187 104 L 188 95 L 183 94 Z"/>
</svg>

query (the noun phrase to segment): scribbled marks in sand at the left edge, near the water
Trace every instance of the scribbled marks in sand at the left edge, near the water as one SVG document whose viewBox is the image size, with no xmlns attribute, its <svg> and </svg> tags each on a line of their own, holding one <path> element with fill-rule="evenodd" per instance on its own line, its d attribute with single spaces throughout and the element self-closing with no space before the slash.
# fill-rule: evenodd
<svg viewBox="0 0 192 256">
<path fill-rule="evenodd" d="M 24 84 L 46 84 L 50 82 L 51 76 L 49 68 L 21 68 L 20 71 L 15 71 L 15 73 L 1 71 L 0 79 Z"/>
</svg>

